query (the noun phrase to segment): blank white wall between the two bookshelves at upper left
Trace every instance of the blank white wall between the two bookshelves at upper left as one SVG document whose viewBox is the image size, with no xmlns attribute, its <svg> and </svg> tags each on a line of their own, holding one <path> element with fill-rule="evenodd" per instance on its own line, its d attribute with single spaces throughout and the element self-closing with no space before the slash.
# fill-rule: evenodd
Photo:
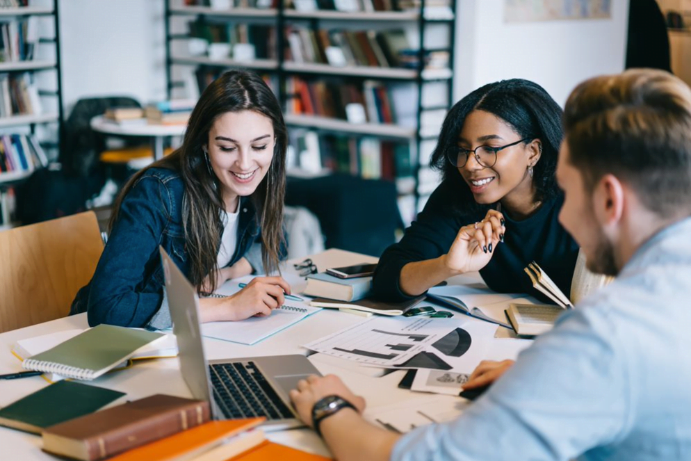
<svg viewBox="0 0 691 461">
<path fill-rule="evenodd" d="M 165 98 L 163 0 L 60 0 L 65 117 L 82 97 Z"/>
</svg>

